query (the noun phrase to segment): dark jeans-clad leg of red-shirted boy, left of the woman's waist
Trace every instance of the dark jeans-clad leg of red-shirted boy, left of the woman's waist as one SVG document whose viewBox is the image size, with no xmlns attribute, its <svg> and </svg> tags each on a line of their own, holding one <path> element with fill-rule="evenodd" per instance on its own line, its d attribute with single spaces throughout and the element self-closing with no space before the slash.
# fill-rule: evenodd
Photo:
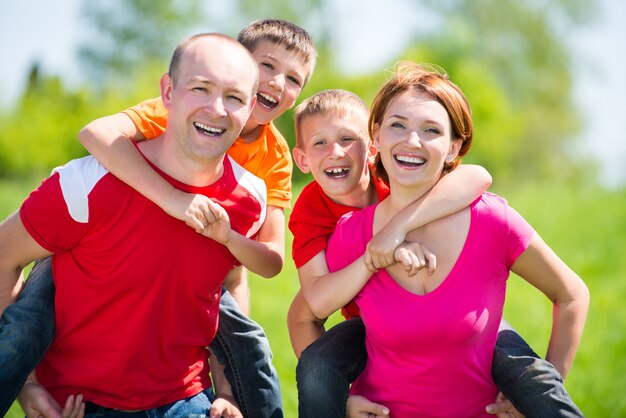
<svg viewBox="0 0 626 418">
<path fill-rule="evenodd" d="M 366 362 L 365 326 L 360 318 L 324 333 L 298 361 L 298 417 L 345 418 L 350 384 Z"/>
</svg>

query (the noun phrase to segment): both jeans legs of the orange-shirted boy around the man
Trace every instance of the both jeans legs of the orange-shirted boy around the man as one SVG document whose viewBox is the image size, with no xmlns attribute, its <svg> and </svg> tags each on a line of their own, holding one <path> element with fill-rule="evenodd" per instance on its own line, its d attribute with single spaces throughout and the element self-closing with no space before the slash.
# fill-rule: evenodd
<svg viewBox="0 0 626 418">
<path fill-rule="evenodd" d="M 0 416 L 43 358 L 54 338 L 54 283 L 51 259 L 38 261 L 16 303 L 0 319 Z M 272 353 L 263 329 L 241 313 L 223 291 L 217 336 L 211 344 L 224 365 L 246 418 L 281 418 L 282 398 Z"/>
</svg>

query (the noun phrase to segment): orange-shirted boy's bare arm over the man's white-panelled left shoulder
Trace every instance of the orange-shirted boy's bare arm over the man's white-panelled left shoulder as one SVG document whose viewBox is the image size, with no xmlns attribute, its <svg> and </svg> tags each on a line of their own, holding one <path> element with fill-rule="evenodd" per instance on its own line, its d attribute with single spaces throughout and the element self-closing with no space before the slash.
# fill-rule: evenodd
<svg viewBox="0 0 626 418">
<path fill-rule="evenodd" d="M 130 141 L 129 141 L 130 139 Z M 185 193 L 150 167 L 131 141 L 145 139 L 125 113 L 96 119 L 78 134 L 78 140 L 103 166 L 124 183 L 159 205 L 167 214 L 201 231 L 206 196 Z"/>
</svg>

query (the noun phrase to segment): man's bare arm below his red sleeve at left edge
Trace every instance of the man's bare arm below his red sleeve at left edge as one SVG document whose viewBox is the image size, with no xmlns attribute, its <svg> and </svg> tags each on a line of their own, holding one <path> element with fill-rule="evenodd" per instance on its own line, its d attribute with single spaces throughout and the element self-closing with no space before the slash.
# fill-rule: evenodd
<svg viewBox="0 0 626 418">
<path fill-rule="evenodd" d="M 19 212 L 0 224 L 0 314 L 17 298 L 24 267 L 51 254 L 26 231 Z"/>
</svg>

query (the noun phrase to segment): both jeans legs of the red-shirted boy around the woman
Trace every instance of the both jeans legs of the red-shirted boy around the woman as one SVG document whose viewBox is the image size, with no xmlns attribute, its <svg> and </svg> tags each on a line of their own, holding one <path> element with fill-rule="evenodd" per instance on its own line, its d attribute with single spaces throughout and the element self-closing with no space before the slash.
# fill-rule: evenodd
<svg viewBox="0 0 626 418">
<path fill-rule="evenodd" d="M 298 361 L 298 416 L 344 418 L 349 386 L 366 362 L 365 327 L 360 319 L 328 330 Z M 527 418 L 583 416 L 554 366 L 511 328 L 498 333 L 491 373 L 498 389 Z"/>
</svg>

